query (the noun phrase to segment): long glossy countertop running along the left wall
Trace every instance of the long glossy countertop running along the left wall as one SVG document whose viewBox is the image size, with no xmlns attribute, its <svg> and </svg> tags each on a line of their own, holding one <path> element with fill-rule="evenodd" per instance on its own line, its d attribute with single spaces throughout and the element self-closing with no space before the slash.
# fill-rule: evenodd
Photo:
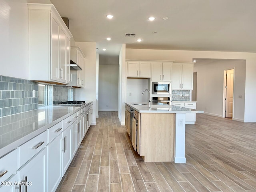
<svg viewBox="0 0 256 192">
<path fill-rule="evenodd" d="M 85 102 L 83 106 L 45 106 L 0 118 L 0 157 L 92 103 Z"/>
</svg>

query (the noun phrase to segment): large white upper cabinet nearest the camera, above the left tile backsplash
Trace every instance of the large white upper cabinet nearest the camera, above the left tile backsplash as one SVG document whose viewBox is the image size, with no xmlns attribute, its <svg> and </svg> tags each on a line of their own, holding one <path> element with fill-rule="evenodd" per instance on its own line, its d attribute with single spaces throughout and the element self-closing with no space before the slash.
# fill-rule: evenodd
<svg viewBox="0 0 256 192">
<path fill-rule="evenodd" d="M 54 5 L 28 3 L 28 10 L 30 80 L 68 84 L 72 34 Z"/>
</svg>

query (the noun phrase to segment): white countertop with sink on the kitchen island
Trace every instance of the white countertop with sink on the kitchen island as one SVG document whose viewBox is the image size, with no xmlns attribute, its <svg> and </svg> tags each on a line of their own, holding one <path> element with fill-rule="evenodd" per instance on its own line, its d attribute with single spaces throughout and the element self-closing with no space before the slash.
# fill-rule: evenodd
<svg viewBox="0 0 256 192">
<path fill-rule="evenodd" d="M 140 113 L 204 113 L 195 109 L 189 109 L 180 106 L 173 105 L 134 105 L 134 104 L 146 104 L 146 103 L 125 103 L 130 108 Z"/>
</svg>

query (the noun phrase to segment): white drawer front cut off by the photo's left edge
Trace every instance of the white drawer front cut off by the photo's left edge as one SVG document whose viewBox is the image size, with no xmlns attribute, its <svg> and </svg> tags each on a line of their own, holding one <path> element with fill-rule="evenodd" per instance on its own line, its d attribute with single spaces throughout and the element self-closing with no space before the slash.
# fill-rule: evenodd
<svg viewBox="0 0 256 192">
<path fill-rule="evenodd" d="M 7 180 L 18 169 L 18 150 L 0 159 L 0 182 Z"/>
</svg>

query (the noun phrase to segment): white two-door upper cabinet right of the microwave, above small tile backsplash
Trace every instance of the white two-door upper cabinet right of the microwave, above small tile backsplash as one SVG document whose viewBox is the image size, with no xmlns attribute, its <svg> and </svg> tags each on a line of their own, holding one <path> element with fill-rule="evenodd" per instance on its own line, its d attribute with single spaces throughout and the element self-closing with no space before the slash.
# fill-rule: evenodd
<svg viewBox="0 0 256 192">
<path fill-rule="evenodd" d="M 194 63 L 172 64 L 172 90 L 193 90 Z"/>
</svg>

